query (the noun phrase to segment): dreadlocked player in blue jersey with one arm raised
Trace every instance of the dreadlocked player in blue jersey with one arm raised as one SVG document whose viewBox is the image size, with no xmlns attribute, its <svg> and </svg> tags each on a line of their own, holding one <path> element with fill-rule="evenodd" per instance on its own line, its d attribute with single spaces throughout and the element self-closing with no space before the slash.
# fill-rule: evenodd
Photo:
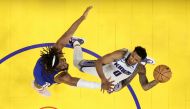
<svg viewBox="0 0 190 109">
<path fill-rule="evenodd" d="M 77 77 L 72 77 L 68 73 L 69 64 L 63 56 L 62 49 L 68 43 L 77 41 L 83 44 L 83 39 L 72 37 L 74 32 L 83 20 L 86 19 L 92 6 L 88 7 L 82 16 L 77 19 L 71 27 L 57 40 L 52 47 L 47 47 L 41 51 L 41 57 L 38 59 L 34 68 L 34 89 L 41 95 L 50 96 L 47 87 L 54 83 L 65 83 L 71 86 L 84 88 L 101 88 L 100 83 L 86 81 Z"/>
</svg>

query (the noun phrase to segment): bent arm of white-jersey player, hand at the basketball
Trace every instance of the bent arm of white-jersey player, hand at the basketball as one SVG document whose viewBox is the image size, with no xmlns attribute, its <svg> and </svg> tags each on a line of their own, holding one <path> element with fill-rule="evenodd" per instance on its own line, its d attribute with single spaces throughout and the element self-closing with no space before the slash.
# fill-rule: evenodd
<svg viewBox="0 0 190 109">
<path fill-rule="evenodd" d="M 139 81 L 142 86 L 142 88 L 147 91 L 151 89 L 152 87 L 156 86 L 159 82 L 156 80 L 148 81 L 148 78 L 146 76 L 146 68 L 144 65 L 138 66 L 138 74 L 139 74 Z"/>
</svg>

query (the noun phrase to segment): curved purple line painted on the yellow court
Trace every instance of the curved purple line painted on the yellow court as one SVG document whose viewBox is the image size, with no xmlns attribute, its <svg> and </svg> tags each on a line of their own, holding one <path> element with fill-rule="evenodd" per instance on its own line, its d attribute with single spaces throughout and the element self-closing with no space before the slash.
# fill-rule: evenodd
<svg viewBox="0 0 190 109">
<path fill-rule="evenodd" d="M 11 58 L 11 57 L 13 57 L 13 56 L 15 56 L 15 55 L 17 55 L 17 54 L 19 54 L 19 53 L 22 53 L 22 52 L 24 52 L 24 51 L 27 51 L 27 50 L 30 50 L 30 49 L 35 49 L 35 48 L 40 48 L 40 47 L 52 46 L 53 44 L 54 44 L 54 43 L 42 43 L 42 44 L 35 44 L 35 45 L 31 45 L 31 46 L 27 46 L 27 47 L 21 48 L 21 49 L 19 49 L 19 50 L 16 50 L 16 51 L 14 51 L 14 52 L 8 54 L 8 55 L 5 56 L 4 58 L 0 59 L 0 64 L 2 64 L 3 62 L 5 62 L 5 61 L 8 60 L 9 58 Z M 73 47 L 72 47 L 71 45 L 69 45 L 69 44 L 67 44 L 66 47 L 67 47 L 67 48 L 73 48 Z M 98 55 L 98 54 L 96 54 L 95 52 L 90 51 L 90 50 L 88 50 L 88 49 L 86 49 L 86 48 L 82 48 L 82 51 L 85 52 L 85 53 L 88 53 L 88 54 L 90 54 L 90 55 L 92 55 L 92 56 L 94 56 L 94 57 L 96 57 L 96 58 L 100 58 L 100 57 L 101 57 L 100 55 Z M 128 89 L 129 89 L 129 91 L 130 91 L 130 93 L 131 93 L 131 95 L 132 95 L 132 97 L 133 97 L 133 99 L 134 99 L 134 101 L 135 101 L 135 104 L 136 104 L 137 109 L 141 109 L 140 103 L 139 103 L 139 101 L 138 101 L 138 98 L 137 98 L 137 96 L 136 96 L 136 94 L 135 94 L 133 88 L 131 87 L 130 84 L 127 85 L 127 87 L 128 87 Z"/>
</svg>

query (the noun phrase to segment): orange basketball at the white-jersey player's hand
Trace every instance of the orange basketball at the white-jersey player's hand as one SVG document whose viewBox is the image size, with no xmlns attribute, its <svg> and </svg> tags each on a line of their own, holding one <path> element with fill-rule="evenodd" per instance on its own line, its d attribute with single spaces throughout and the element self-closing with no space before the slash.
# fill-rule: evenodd
<svg viewBox="0 0 190 109">
<path fill-rule="evenodd" d="M 154 79 L 164 83 L 170 80 L 172 77 L 172 72 L 170 68 L 166 65 L 158 65 L 153 72 Z"/>
</svg>

